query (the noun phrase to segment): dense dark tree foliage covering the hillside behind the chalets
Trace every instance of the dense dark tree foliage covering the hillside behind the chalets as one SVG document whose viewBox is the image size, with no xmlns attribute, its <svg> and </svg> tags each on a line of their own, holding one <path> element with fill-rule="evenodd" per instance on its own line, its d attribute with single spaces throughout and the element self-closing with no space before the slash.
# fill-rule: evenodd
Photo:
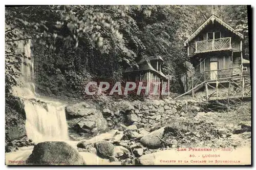
<svg viewBox="0 0 256 170">
<path fill-rule="evenodd" d="M 183 42 L 212 11 L 248 35 L 246 6 L 30 6 L 6 8 L 6 41 L 33 40 L 36 83 L 43 93 L 82 96 L 88 81 L 122 80 L 123 69 L 152 55 L 165 60 L 170 89 L 182 92 L 180 78 L 188 69 Z M 7 90 L 18 73 L 18 65 L 8 69 L 12 55 L 6 51 Z M 17 63 L 20 57 L 26 56 L 15 54 Z"/>
</svg>

